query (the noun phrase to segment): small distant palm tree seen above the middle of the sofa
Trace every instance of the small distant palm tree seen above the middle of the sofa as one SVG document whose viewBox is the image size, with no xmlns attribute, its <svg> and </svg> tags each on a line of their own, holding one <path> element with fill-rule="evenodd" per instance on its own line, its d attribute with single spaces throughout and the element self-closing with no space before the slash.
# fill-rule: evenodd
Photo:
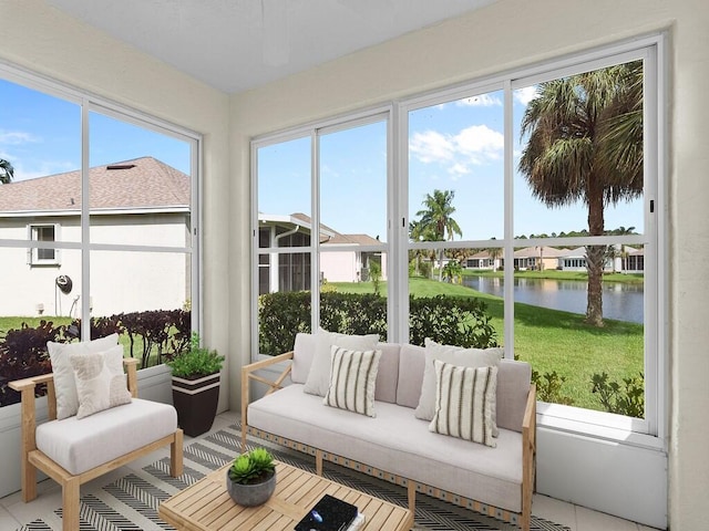
<svg viewBox="0 0 709 531">
<path fill-rule="evenodd" d="M 433 195 L 427 194 L 422 205 L 425 207 L 419 210 L 418 221 L 413 222 L 411 232 L 414 241 L 449 241 L 453 240 L 455 235 L 463 236 L 461 228 L 452 218 L 455 212 L 453 198 L 454 190 L 433 190 Z M 438 251 L 439 258 L 439 281 L 443 280 L 443 249 Z"/>
</svg>

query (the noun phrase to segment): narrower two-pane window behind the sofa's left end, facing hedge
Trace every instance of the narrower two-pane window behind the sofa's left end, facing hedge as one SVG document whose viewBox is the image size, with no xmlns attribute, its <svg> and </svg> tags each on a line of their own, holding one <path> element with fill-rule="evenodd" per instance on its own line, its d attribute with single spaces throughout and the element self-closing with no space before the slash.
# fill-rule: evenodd
<svg viewBox="0 0 709 531">
<path fill-rule="evenodd" d="M 259 354 L 320 325 L 387 336 L 386 312 L 371 325 L 351 299 L 387 301 L 388 126 L 373 113 L 254 144 Z"/>
</svg>

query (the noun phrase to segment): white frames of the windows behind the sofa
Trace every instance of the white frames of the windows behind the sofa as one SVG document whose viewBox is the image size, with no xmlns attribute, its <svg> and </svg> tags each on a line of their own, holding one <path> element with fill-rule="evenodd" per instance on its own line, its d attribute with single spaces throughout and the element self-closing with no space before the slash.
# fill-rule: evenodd
<svg viewBox="0 0 709 531">
<path fill-rule="evenodd" d="M 645 183 L 646 188 L 643 196 L 645 202 L 643 235 L 637 237 L 590 237 L 579 238 L 578 241 L 565 239 L 526 239 L 524 247 L 540 244 L 567 244 L 576 243 L 603 243 L 613 244 L 617 242 L 643 243 L 648 246 L 643 258 L 645 263 L 645 388 L 646 388 L 646 418 L 636 419 L 605 412 L 595 412 L 579 407 L 562 406 L 556 404 L 538 404 L 538 426 L 555 430 L 563 430 L 584 436 L 593 436 L 616 442 L 647 448 L 664 448 L 667 439 L 667 404 L 668 404 L 668 267 L 666 266 L 667 251 L 667 110 L 665 103 L 667 83 L 666 63 L 666 35 L 664 33 L 636 38 L 617 44 L 606 45 L 590 51 L 567 55 L 563 58 L 545 61 L 528 67 L 516 69 L 494 76 L 473 80 L 454 86 L 448 86 L 423 94 L 415 94 L 410 97 L 391 102 L 392 112 L 390 121 L 390 155 L 389 164 L 390 180 L 388 184 L 388 206 L 389 206 L 389 235 L 388 235 L 388 277 L 389 282 L 389 306 L 388 319 L 389 339 L 393 342 L 408 341 L 408 316 L 409 316 L 409 294 L 408 294 L 408 252 L 411 249 L 441 249 L 441 248 L 482 248 L 489 244 L 490 240 L 462 240 L 454 242 L 409 242 L 408 227 L 408 143 L 409 124 L 408 114 L 412 110 L 433 105 L 436 103 L 450 102 L 461 97 L 470 97 L 475 94 L 484 94 L 491 91 L 504 90 L 504 159 L 505 159 L 505 220 L 504 241 L 497 240 L 495 247 L 503 251 L 501 259 L 505 263 L 514 263 L 514 248 L 520 244 L 514 238 L 514 154 L 513 154 L 513 91 L 517 87 L 528 86 L 545 79 L 557 79 L 571 75 L 580 71 L 596 70 L 610 64 L 618 64 L 631 60 L 644 60 L 645 75 L 645 100 L 644 100 L 644 138 L 645 138 Z M 340 122 L 352 119 L 352 116 L 339 118 Z M 330 121 L 332 122 L 332 121 Z M 314 134 L 317 125 L 309 128 L 299 128 L 301 134 Z M 251 142 L 251 160 L 256 160 L 257 148 L 266 143 L 282 142 L 290 133 L 278 133 L 275 135 L 263 135 Z M 316 152 L 317 155 L 317 152 Z M 317 164 L 314 157 L 314 166 Z M 314 168 L 314 175 L 317 169 Z M 317 177 L 314 177 L 317 178 Z M 257 210 L 257 165 L 251 164 L 251 206 Z M 317 181 L 316 181 L 317 184 Z M 316 198 L 317 199 L 317 198 Z M 315 202 L 315 201 L 314 201 Z M 650 212 L 650 205 L 654 211 Z M 315 207 L 315 205 L 314 205 Z M 315 216 L 317 222 L 317 216 Z M 394 221 L 395 220 L 395 221 Z M 257 227 L 254 220 L 254 228 Z M 255 232 L 256 233 L 256 232 Z M 314 252 L 317 257 L 317 242 L 308 248 L 308 252 Z M 306 249 L 298 249 L 306 251 Z M 258 256 L 258 248 L 254 248 Z M 264 251 L 263 249 L 260 250 Z M 257 259 L 254 263 L 258 263 Z M 648 264 L 650 270 L 648 271 Z M 254 269 L 254 268 L 253 268 Z M 256 268 L 258 269 L 258 268 Z M 317 271 L 318 268 L 314 267 Z M 257 271 L 256 271 L 257 272 Z M 513 268 L 505 269 L 505 309 L 514 308 L 513 299 Z M 257 274 L 254 275 L 254 284 L 257 293 Z M 317 285 L 314 282 L 312 285 Z M 319 290 L 312 290 L 314 309 L 317 306 Z M 510 306 L 512 304 L 512 306 Z M 254 319 L 253 323 L 253 358 L 257 358 L 258 348 L 258 317 L 257 296 L 251 298 Z M 395 311 L 395 313 L 393 313 Z M 314 326 L 318 323 L 317 312 L 312 315 Z M 514 314 L 505 311 L 504 316 L 505 345 L 514 345 Z M 514 355 L 513 348 L 506 350 L 506 355 Z"/>
</svg>

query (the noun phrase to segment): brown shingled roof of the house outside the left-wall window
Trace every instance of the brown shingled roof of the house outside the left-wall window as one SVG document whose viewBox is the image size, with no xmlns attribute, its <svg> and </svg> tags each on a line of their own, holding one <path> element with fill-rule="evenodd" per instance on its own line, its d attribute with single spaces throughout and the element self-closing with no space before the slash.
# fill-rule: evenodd
<svg viewBox="0 0 709 531">
<path fill-rule="evenodd" d="M 153 157 L 96 166 L 89 171 L 92 211 L 189 207 L 189 176 Z M 0 186 L 0 214 L 80 210 L 79 170 Z"/>
</svg>

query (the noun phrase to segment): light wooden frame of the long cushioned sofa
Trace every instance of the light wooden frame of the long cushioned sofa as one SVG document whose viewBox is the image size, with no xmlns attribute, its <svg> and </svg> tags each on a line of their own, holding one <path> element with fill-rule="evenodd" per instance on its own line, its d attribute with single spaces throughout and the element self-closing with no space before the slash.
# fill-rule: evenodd
<svg viewBox="0 0 709 531">
<path fill-rule="evenodd" d="M 522 513 L 513 513 L 506 509 L 496 508 L 490 504 L 483 504 L 477 500 L 469 500 L 464 497 L 452 494 L 441 489 L 429 489 L 428 486 L 419 483 L 417 481 L 410 481 L 407 478 L 400 478 L 398 476 L 387 473 L 386 470 L 377 470 L 368 467 L 367 464 L 358 462 L 352 459 L 346 459 L 341 456 L 325 452 L 319 448 L 305 445 L 299 441 L 290 440 L 285 437 L 280 437 L 276 434 L 269 434 L 260 429 L 256 429 L 248 425 L 248 404 L 250 402 L 250 382 L 258 382 L 268 387 L 266 395 L 270 395 L 278 389 L 282 388 L 282 383 L 290 374 L 291 364 L 278 375 L 275 381 L 269 381 L 257 374 L 256 371 L 266 368 L 277 363 L 292 361 L 294 352 L 287 352 L 274 356 L 269 360 L 263 360 L 251 363 L 242 367 L 242 451 L 246 451 L 246 436 L 247 434 L 256 437 L 270 440 L 273 442 L 302 451 L 305 454 L 315 456 L 316 459 L 316 473 L 322 475 L 322 460 L 336 462 L 338 465 L 356 469 L 360 472 L 371 473 L 373 476 L 387 479 L 393 483 L 407 487 L 409 509 L 415 513 L 415 496 L 417 491 L 425 492 L 430 496 L 441 498 L 445 501 L 473 509 L 477 512 L 486 513 L 490 517 L 501 519 L 503 521 L 513 522 L 517 520 L 518 527 L 522 531 L 530 531 L 532 525 L 532 496 L 535 488 L 535 471 L 536 471 L 536 386 L 530 384 L 530 394 L 527 395 L 526 407 L 524 410 L 524 418 L 522 421 Z M 380 473 L 383 472 L 383 473 Z"/>
</svg>

